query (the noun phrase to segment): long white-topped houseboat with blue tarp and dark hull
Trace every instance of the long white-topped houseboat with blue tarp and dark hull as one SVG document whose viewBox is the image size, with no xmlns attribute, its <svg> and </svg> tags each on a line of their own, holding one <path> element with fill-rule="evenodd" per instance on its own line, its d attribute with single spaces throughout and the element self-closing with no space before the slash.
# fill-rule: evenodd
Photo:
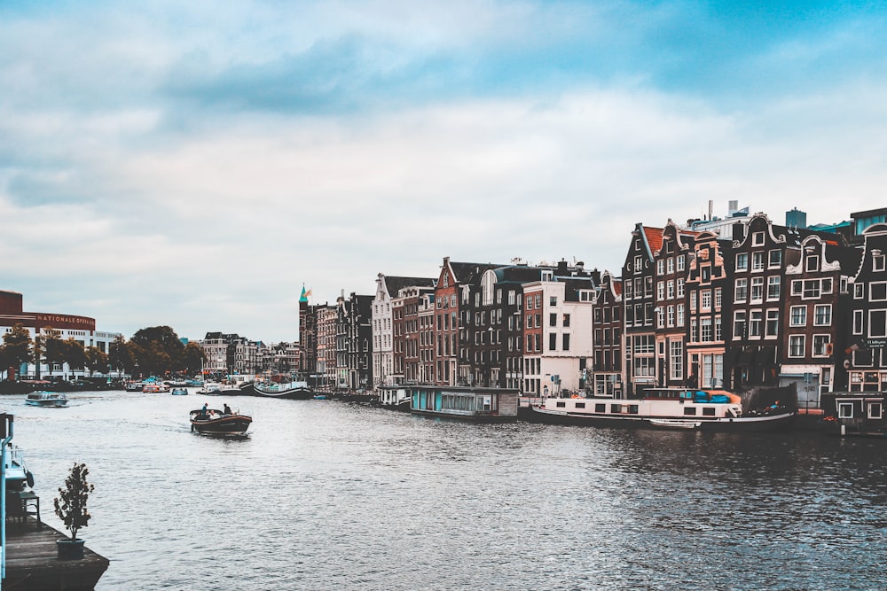
<svg viewBox="0 0 887 591">
<path fill-rule="evenodd" d="M 548 424 L 742 432 L 789 429 L 797 410 L 777 401 L 743 412 L 742 398 L 734 393 L 661 388 L 647 390 L 632 400 L 546 398 L 524 409 L 522 416 Z"/>
</svg>

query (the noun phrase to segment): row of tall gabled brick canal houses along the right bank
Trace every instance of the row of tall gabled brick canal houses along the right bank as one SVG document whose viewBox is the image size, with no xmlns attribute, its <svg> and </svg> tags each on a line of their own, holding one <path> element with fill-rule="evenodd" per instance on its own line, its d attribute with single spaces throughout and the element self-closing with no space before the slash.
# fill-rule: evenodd
<svg viewBox="0 0 887 591">
<path fill-rule="evenodd" d="M 802 212 L 638 223 L 618 275 L 581 262 L 443 258 L 436 277 L 300 304 L 320 390 L 430 384 L 632 397 L 654 386 L 887 391 L 887 209 L 806 228 Z M 718 223 L 715 223 L 718 222 Z"/>
</svg>

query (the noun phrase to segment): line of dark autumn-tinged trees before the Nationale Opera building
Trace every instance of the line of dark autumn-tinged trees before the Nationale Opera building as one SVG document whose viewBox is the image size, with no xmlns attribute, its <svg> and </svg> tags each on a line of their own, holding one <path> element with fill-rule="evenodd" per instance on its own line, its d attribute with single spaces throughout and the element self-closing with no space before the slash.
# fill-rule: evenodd
<svg viewBox="0 0 887 591">
<path fill-rule="evenodd" d="M 86 369 L 105 375 L 128 374 L 162 376 L 167 374 L 192 375 L 203 366 L 203 347 L 197 343 L 185 345 L 169 326 L 152 326 L 138 330 L 126 340 L 117 337 L 102 351 L 97 346 L 83 346 L 74 338 L 61 338 L 59 330 L 43 330 L 35 338 L 22 325 L 16 324 L 4 334 L 0 345 L 0 368 L 15 377 L 23 363 L 34 363 L 35 377 L 40 366 L 50 369 L 67 363 L 71 369 Z"/>
</svg>

